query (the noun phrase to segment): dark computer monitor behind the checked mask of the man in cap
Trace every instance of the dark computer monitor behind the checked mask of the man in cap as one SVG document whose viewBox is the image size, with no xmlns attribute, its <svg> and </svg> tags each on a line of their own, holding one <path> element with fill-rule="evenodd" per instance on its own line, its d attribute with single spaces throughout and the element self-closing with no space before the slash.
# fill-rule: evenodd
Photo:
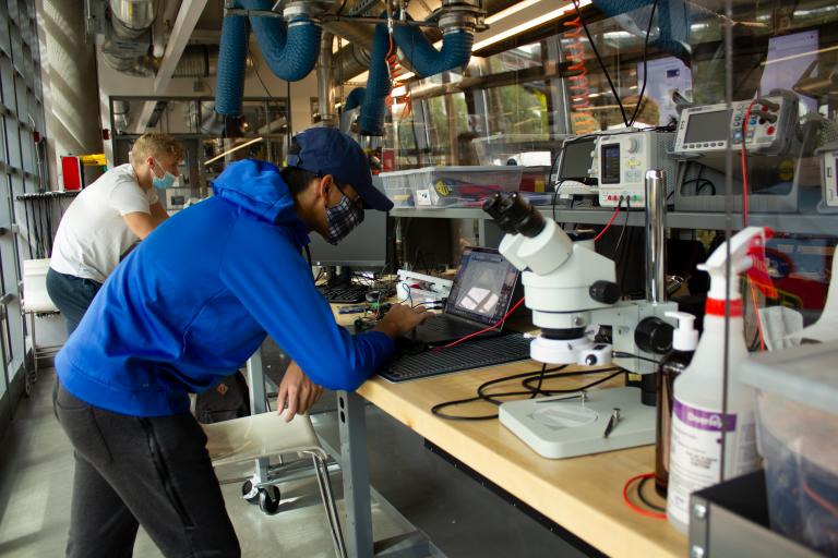
<svg viewBox="0 0 838 558">
<path fill-rule="evenodd" d="M 383 190 L 379 177 L 372 183 Z M 367 209 L 363 222 L 350 232 L 337 246 L 320 234 L 309 235 L 311 263 L 316 266 L 383 267 L 387 260 L 387 214 Z"/>
</svg>

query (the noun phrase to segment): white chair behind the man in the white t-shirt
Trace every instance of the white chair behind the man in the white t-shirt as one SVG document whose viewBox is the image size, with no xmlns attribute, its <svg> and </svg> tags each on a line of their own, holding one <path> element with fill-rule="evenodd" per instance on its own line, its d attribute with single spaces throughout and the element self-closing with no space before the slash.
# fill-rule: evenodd
<svg viewBox="0 0 838 558">
<path fill-rule="evenodd" d="M 38 379 L 38 359 L 41 356 L 53 356 L 61 345 L 38 348 L 37 337 L 35 335 L 35 316 L 44 314 L 58 314 L 59 311 L 47 294 L 47 271 L 49 270 L 49 258 L 24 259 L 23 260 L 23 281 L 21 291 L 21 312 L 23 313 L 24 328 L 28 325 L 32 331 L 32 366 L 28 360 L 24 359 L 25 378 L 24 389 L 28 396 L 32 391 L 32 385 Z M 28 317 L 28 324 L 26 318 Z"/>
</svg>

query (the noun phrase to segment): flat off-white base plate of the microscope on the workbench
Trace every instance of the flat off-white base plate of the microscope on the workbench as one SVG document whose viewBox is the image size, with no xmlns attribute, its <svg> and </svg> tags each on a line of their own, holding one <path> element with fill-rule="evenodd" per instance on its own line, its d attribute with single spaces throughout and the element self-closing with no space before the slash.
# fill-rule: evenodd
<svg viewBox="0 0 838 558">
<path fill-rule="evenodd" d="M 561 395 L 503 403 L 500 420 L 539 454 L 573 458 L 655 444 L 655 408 L 641 403 L 637 388 L 591 389 L 586 401 Z M 614 408 L 620 421 L 608 438 Z"/>
</svg>

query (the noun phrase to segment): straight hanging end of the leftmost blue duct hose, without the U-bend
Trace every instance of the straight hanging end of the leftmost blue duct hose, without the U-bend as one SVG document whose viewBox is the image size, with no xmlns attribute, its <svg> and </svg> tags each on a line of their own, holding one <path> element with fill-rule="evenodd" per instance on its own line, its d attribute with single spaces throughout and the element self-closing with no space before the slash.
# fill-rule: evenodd
<svg viewBox="0 0 838 558">
<path fill-rule="evenodd" d="M 248 57 L 248 20 L 241 15 L 225 17 L 218 53 L 215 86 L 215 111 L 219 114 L 241 113 L 244 94 L 244 63 Z"/>
</svg>

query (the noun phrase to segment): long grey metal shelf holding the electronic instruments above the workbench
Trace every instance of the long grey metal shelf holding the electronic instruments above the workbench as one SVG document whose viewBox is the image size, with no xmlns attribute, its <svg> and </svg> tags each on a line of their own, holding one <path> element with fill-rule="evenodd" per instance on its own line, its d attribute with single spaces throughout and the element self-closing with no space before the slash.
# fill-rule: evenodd
<svg viewBox="0 0 838 558">
<path fill-rule="evenodd" d="M 552 217 L 550 206 L 540 206 L 539 210 L 546 217 Z M 588 225 L 604 225 L 611 218 L 613 209 L 555 209 L 560 222 L 576 222 Z M 479 208 L 408 208 L 393 209 L 392 217 L 424 217 L 441 219 L 491 219 Z M 622 225 L 624 216 L 620 216 Z M 667 214 L 667 227 L 672 229 L 723 229 L 727 217 L 720 213 L 672 211 Z M 645 223 L 644 211 L 631 211 L 628 225 L 642 227 Z M 734 229 L 742 228 L 742 216 L 734 215 L 731 223 Z M 751 214 L 749 225 L 767 226 L 778 232 L 795 234 L 838 235 L 838 215 L 824 214 Z"/>
</svg>

